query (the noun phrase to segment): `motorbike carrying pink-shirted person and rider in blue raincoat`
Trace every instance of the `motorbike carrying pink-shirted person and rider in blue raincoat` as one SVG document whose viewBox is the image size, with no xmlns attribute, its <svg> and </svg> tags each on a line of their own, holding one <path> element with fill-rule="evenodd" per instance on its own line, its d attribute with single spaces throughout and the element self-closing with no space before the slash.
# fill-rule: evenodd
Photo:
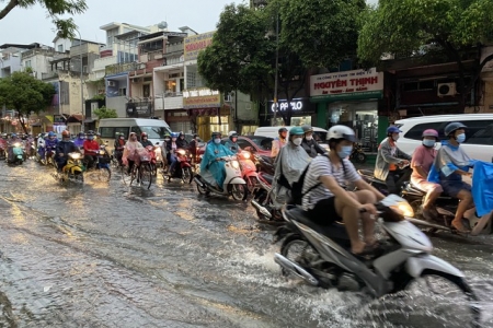
<svg viewBox="0 0 493 328">
<path fill-rule="evenodd" d="M 426 192 L 413 186 L 411 183 L 405 183 L 402 189 L 402 197 L 405 198 L 414 211 L 414 218 L 408 218 L 409 221 L 417 226 L 425 229 L 428 233 L 435 233 L 437 231 L 447 231 L 456 233 L 456 230 L 451 226 L 451 221 L 456 216 L 457 207 L 459 200 L 452 198 L 446 194 L 442 194 L 435 200 L 435 209 L 438 216 L 434 220 L 425 220 L 423 218 L 422 204 L 426 197 Z M 493 213 L 490 212 L 481 218 L 475 214 L 475 209 L 469 209 L 465 213 L 462 223 L 471 229 L 471 235 L 477 236 L 480 234 L 490 234 L 492 232 Z"/>
</svg>

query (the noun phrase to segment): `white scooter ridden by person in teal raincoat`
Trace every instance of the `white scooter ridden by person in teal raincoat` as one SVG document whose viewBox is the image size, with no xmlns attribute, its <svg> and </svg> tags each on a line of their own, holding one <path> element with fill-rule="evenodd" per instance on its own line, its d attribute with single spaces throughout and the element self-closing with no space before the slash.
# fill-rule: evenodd
<svg viewBox="0 0 493 328">
<path fill-rule="evenodd" d="M 208 169 L 195 175 L 194 181 L 197 184 L 197 191 L 200 195 L 209 195 L 210 192 L 232 196 L 234 200 L 245 200 L 248 196 L 246 183 L 241 177 L 240 163 L 236 156 L 220 157 L 220 161 L 226 162 L 225 171 L 226 178 L 222 190 L 217 187 L 216 179 Z"/>
</svg>

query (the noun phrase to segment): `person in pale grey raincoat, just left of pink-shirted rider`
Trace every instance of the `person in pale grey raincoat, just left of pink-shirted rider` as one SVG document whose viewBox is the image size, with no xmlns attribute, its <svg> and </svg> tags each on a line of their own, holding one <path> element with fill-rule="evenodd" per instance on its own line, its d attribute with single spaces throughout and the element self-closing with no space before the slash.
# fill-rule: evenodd
<svg viewBox="0 0 493 328">
<path fill-rule="evenodd" d="M 375 163 L 375 177 L 386 181 L 389 194 L 399 194 L 402 184 L 409 180 L 411 168 L 401 168 L 409 165 L 411 156 L 399 150 L 397 141 L 398 127 L 387 128 L 387 138 L 378 147 L 377 160 Z"/>
</svg>

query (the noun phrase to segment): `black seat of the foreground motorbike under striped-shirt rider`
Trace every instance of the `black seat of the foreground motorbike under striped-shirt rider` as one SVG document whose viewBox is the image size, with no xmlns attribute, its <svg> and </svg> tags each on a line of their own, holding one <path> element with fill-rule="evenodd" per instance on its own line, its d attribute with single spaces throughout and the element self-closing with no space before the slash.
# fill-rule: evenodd
<svg viewBox="0 0 493 328">
<path fill-rule="evenodd" d="M 339 245 L 345 248 L 351 247 L 349 237 L 347 236 L 346 227 L 344 226 L 343 223 L 334 222 L 330 225 L 320 225 L 310 220 L 310 218 L 308 218 L 307 212 L 299 207 L 293 208 L 286 213 L 290 219 L 309 226 L 316 232 L 331 238 Z"/>
</svg>

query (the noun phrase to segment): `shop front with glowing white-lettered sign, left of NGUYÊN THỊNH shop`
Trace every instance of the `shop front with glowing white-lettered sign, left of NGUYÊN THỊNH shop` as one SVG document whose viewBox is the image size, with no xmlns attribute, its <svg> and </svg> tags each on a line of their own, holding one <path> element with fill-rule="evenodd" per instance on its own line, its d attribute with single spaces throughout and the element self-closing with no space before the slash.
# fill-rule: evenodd
<svg viewBox="0 0 493 328">
<path fill-rule="evenodd" d="M 275 110 L 274 101 L 267 102 L 267 107 L 260 112 L 261 126 L 271 126 L 274 118 Z M 282 113 L 293 110 L 291 126 L 311 125 L 317 127 L 317 106 L 310 102 L 310 98 L 294 98 L 290 104 L 287 99 L 279 99 L 277 102 L 277 114 L 275 126 L 284 126 Z"/>
</svg>

